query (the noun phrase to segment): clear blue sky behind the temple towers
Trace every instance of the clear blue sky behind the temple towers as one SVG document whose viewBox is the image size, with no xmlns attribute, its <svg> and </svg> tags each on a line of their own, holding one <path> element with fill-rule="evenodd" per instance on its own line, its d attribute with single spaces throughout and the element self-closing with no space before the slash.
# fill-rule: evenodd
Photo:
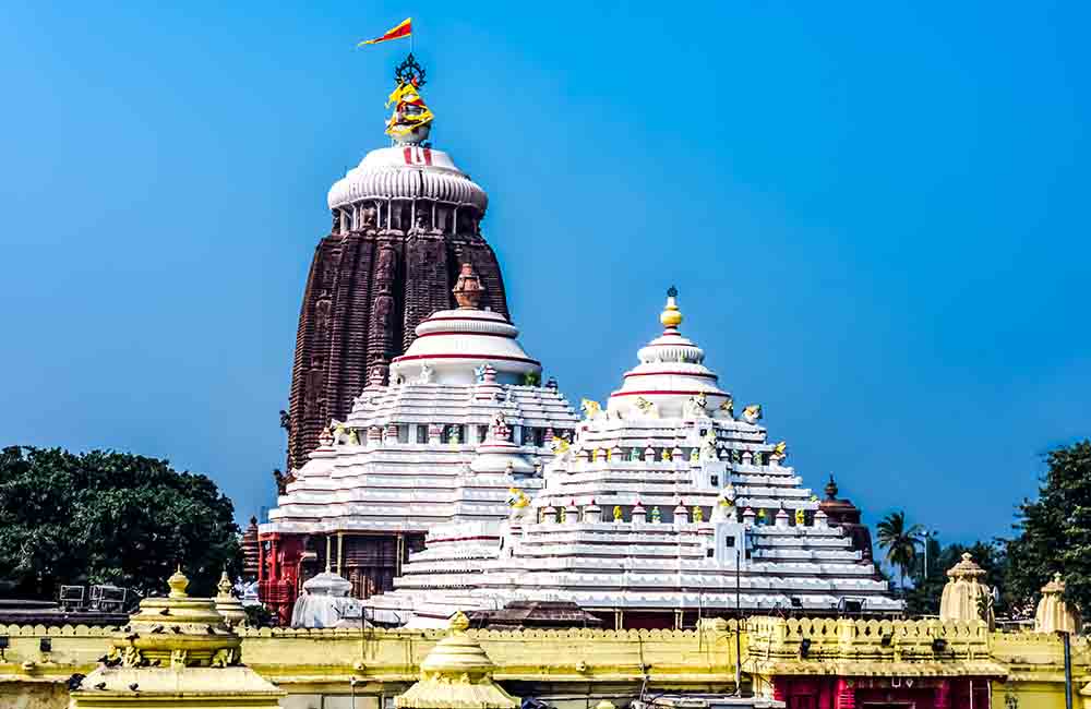
<svg viewBox="0 0 1091 709">
<path fill-rule="evenodd" d="M 874 522 L 1006 533 L 1091 432 L 1086 3 L 71 3 L 0 10 L 0 443 L 272 501 L 329 184 L 408 43 L 491 195 L 523 343 L 603 398 L 683 331 Z"/>
</svg>

